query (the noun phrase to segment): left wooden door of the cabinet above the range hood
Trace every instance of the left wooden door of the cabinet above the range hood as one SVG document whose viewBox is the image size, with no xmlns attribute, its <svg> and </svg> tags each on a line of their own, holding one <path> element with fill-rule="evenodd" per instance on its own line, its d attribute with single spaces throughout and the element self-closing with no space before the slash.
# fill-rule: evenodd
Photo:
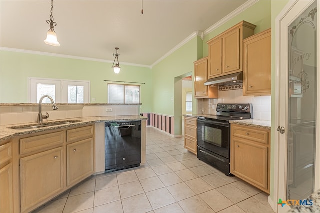
<svg viewBox="0 0 320 213">
<path fill-rule="evenodd" d="M 209 43 L 209 55 L 208 79 L 222 74 L 222 38 Z"/>
</svg>

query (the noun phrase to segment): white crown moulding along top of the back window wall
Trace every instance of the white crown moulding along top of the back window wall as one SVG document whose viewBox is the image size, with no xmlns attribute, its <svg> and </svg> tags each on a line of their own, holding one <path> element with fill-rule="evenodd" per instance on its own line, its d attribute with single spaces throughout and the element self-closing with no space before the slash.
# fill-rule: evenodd
<svg viewBox="0 0 320 213">
<path fill-rule="evenodd" d="M 49 53 L 49 52 L 39 52 L 39 51 L 25 50 L 25 49 L 15 49 L 15 48 L 8 48 L 8 47 L 0 47 L 0 50 L 10 51 L 10 52 L 20 52 L 20 53 L 35 54 L 35 55 L 53 56 L 53 57 L 60 57 L 60 58 L 71 58 L 71 59 L 78 59 L 78 60 L 97 61 L 97 62 L 111 63 L 111 64 L 113 63 L 113 61 L 110 61 L 110 60 L 103 60 L 103 59 L 97 59 L 97 58 L 88 58 L 88 57 L 80 57 L 80 56 L 73 56 L 73 55 L 63 55 L 63 54 L 56 54 L 56 53 Z M 121 64 L 129 65 L 129 66 L 147 67 L 147 68 L 150 68 L 150 69 L 152 68 L 151 66 L 144 65 L 144 64 L 135 64 L 135 63 L 126 63 L 126 62 L 121 62 Z"/>
</svg>

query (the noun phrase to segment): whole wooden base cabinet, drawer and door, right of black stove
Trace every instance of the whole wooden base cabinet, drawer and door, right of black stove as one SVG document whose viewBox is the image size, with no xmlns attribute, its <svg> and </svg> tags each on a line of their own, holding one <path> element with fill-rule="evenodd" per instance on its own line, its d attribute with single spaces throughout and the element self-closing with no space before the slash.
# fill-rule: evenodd
<svg viewBox="0 0 320 213">
<path fill-rule="evenodd" d="M 270 193 L 270 130 L 231 124 L 230 172 Z"/>
</svg>

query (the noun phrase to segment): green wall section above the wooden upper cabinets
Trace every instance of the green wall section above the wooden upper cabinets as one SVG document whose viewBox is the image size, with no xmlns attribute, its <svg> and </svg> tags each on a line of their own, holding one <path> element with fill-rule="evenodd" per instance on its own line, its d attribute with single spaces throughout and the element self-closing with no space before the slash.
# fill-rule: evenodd
<svg viewBox="0 0 320 213">
<path fill-rule="evenodd" d="M 242 20 L 256 25 L 255 33 L 271 28 L 271 1 L 260 0 L 256 2 L 254 5 L 233 17 L 222 26 L 205 35 L 203 39 L 203 57 L 208 56 L 208 45 L 206 43 L 208 40 L 219 35 Z"/>
</svg>

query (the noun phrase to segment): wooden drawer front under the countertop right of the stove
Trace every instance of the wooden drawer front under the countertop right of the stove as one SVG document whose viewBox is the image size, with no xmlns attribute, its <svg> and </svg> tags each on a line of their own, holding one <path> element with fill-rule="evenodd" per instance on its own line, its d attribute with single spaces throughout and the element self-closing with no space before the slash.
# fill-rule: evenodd
<svg viewBox="0 0 320 213">
<path fill-rule="evenodd" d="M 234 126 L 232 128 L 233 136 L 249 139 L 252 141 L 260 142 L 263 144 L 268 144 L 268 131 L 260 128 L 245 128 L 240 126 Z"/>
</svg>

